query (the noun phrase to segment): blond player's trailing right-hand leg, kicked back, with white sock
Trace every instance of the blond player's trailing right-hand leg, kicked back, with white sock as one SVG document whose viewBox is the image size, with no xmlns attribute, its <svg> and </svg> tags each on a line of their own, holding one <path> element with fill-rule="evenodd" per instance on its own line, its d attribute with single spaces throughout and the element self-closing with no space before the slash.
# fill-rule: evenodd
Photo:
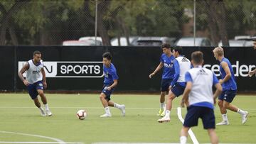
<svg viewBox="0 0 256 144">
<path fill-rule="evenodd" d="M 223 102 L 223 107 L 225 109 L 229 109 L 230 111 L 239 113 L 242 117 L 242 124 L 244 124 L 247 121 L 248 112 L 243 111 L 242 109 L 239 109 L 238 106 L 230 104 L 233 101 L 233 99 L 235 98 L 235 95 L 236 95 L 236 91 L 228 91 L 226 94 L 225 100 Z"/>
</svg>

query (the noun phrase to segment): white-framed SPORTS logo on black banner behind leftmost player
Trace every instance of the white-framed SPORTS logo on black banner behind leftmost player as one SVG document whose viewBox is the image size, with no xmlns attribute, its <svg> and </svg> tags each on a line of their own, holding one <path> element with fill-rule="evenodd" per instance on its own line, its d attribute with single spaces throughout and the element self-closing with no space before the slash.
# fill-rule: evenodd
<svg viewBox="0 0 256 144">
<path fill-rule="evenodd" d="M 26 61 L 18 61 L 18 71 Z M 104 76 L 102 62 L 43 62 L 46 77 L 95 77 Z M 23 74 L 26 77 L 26 72 Z"/>
</svg>

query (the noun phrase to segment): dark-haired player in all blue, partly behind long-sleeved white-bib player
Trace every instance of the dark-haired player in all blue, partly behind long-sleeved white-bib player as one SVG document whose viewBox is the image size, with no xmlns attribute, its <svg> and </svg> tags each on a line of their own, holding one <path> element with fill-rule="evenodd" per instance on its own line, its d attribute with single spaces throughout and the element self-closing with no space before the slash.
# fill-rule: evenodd
<svg viewBox="0 0 256 144">
<path fill-rule="evenodd" d="M 171 81 L 174 79 L 174 55 L 171 53 L 171 45 L 164 43 L 161 45 L 161 49 L 163 50 L 163 54 L 160 57 L 160 63 L 156 67 L 153 73 L 149 74 L 149 78 L 153 77 L 162 67 L 164 67 L 164 71 L 161 79 L 161 93 L 160 93 L 160 109 L 159 116 L 164 116 L 165 114 L 165 95 L 169 92 L 169 86 Z"/>
</svg>

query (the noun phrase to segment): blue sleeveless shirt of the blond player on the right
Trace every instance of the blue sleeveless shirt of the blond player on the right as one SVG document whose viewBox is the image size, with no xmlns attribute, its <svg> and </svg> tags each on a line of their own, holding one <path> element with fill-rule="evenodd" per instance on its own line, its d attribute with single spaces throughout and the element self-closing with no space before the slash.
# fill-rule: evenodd
<svg viewBox="0 0 256 144">
<path fill-rule="evenodd" d="M 222 84 L 223 90 L 236 90 L 237 89 L 237 84 L 235 82 L 235 74 L 234 74 L 234 71 L 233 71 L 233 68 L 232 68 L 232 65 L 231 65 L 230 61 L 227 58 L 223 57 L 223 59 L 220 61 L 220 63 L 221 62 L 227 62 L 228 63 L 228 67 L 229 67 L 230 73 L 231 73 L 230 79 L 228 79 L 227 82 L 223 82 L 223 84 Z M 225 76 L 226 76 L 225 70 L 220 65 L 220 77 L 221 77 L 221 79 L 224 79 Z"/>
</svg>

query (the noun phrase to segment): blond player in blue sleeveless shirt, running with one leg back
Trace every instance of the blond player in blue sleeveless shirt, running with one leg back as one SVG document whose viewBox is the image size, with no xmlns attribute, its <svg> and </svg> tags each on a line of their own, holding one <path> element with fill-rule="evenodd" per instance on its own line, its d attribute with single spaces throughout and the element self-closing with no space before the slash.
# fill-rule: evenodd
<svg viewBox="0 0 256 144">
<path fill-rule="evenodd" d="M 237 106 L 230 104 L 235 98 L 237 92 L 237 84 L 235 82 L 235 74 L 231 66 L 230 61 L 224 57 L 224 50 L 221 47 L 217 47 L 213 50 L 214 57 L 220 62 L 220 84 L 222 84 L 223 92 L 218 96 L 218 106 L 220 107 L 220 113 L 222 114 L 223 121 L 217 123 L 217 125 L 228 125 L 227 109 L 240 113 L 242 116 L 242 124 L 247 121 L 248 112 L 238 109 Z"/>
</svg>

